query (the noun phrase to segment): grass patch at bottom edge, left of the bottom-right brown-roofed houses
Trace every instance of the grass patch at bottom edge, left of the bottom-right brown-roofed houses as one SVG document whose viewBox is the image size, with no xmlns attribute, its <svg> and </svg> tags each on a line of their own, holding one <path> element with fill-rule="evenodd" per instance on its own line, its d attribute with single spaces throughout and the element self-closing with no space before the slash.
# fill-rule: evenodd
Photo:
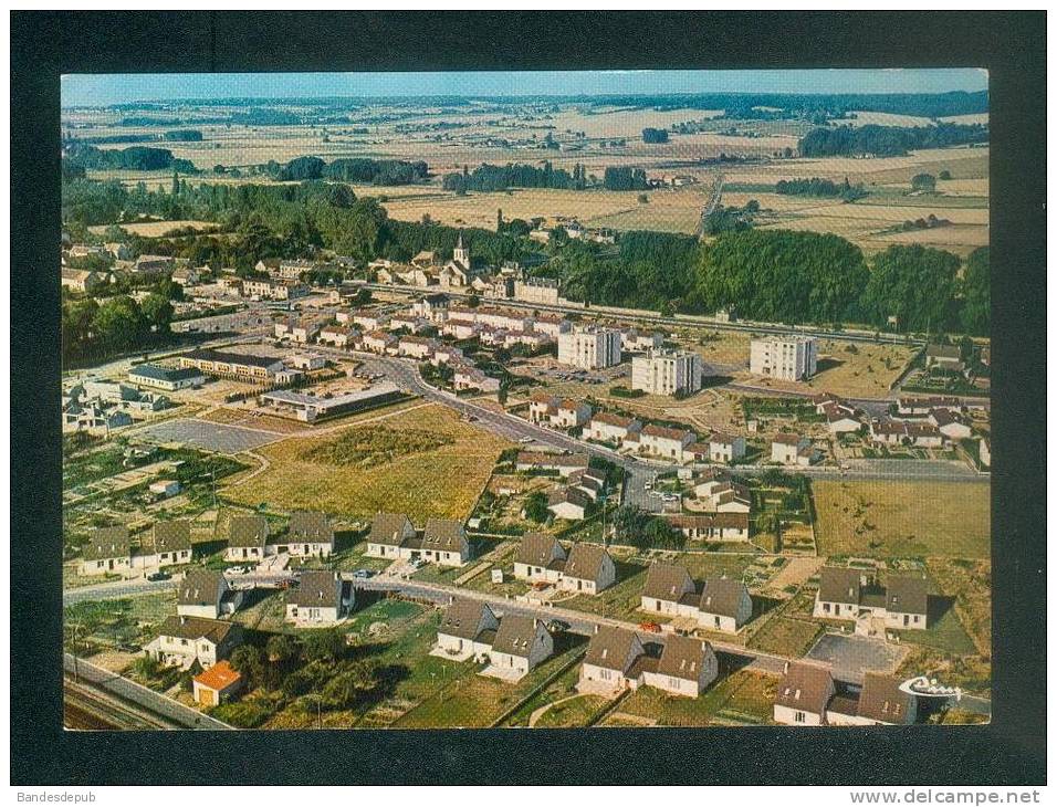
<svg viewBox="0 0 1057 807">
<path fill-rule="evenodd" d="M 630 714 L 663 726 L 768 723 L 776 683 L 776 678 L 739 670 L 720 678 L 700 698 L 680 698 L 640 687 L 620 703 L 614 717 Z"/>
</svg>

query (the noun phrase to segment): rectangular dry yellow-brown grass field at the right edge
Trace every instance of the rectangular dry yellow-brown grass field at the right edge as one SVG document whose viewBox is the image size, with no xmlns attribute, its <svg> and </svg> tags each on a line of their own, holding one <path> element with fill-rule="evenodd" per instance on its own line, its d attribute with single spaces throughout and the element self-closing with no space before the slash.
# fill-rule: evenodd
<svg viewBox="0 0 1057 807">
<path fill-rule="evenodd" d="M 991 554 L 990 484 L 823 481 L 814 494 L 820 555 Z"/>
</svg>

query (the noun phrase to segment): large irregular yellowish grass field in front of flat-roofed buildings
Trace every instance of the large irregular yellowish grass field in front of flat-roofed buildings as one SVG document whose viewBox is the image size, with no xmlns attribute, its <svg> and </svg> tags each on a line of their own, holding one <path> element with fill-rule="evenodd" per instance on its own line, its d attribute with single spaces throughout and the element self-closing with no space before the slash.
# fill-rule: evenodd
<svg viewBox="0 0 1057 807">
<path fill-rule="evenodd" d="M 238 504 L 287 511 L 325 510 L 364 518 L 379 511 L 402 512 L 416 522 L 429 516 L 465 518 L 489 471 L 507 442 L 462 423 L 450 410 L 429 406 L 397 415 L 385 422 L 399 436 L 415 430 L 444 442 L 431 450 L 404 453 L 390 446 L 391 457 L 378 458 L 369 470 L 335 468 L 315 457 L 328 454 L 363 427 L 316 438 L 291 438 L 261 449 L 271 463 L 263 473 L 224 492 Z"/>
</svg>

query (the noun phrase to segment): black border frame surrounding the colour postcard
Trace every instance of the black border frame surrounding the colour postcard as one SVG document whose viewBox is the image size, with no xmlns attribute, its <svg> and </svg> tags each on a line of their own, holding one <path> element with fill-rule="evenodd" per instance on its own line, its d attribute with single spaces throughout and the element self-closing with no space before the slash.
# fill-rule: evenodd
<svg viewBox="0 0 1057 807">
<path fill-rule="evenodd" d="M 13 784 L 1045 782 L 1044 12 L 12 12 L 11 45 Z M 993 289 L 993 502 L 1001 506 L 993 504 L 991 725 L 62 730 L 61 570 L 43 560 L 61 556 L 59 284 L 46 269 L 59 258 L 60 73 L 830 66 L 990 70 L 992 254 L 1001 279 Z"/>
</svg>

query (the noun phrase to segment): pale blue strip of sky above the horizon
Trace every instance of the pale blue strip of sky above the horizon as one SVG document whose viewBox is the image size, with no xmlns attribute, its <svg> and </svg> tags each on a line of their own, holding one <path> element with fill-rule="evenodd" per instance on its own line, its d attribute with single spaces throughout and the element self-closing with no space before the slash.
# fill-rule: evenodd
<svg viewBox="0 0 1057 807">
<path fill-rule="evenodd" d="M 62 105 L 226 97 L 604 95 L 650 93 L 942 93 L 987 88 L 978 67 L 643 70 L 436 73 L 168 73 L 64 75 Z"/>
</svg>

